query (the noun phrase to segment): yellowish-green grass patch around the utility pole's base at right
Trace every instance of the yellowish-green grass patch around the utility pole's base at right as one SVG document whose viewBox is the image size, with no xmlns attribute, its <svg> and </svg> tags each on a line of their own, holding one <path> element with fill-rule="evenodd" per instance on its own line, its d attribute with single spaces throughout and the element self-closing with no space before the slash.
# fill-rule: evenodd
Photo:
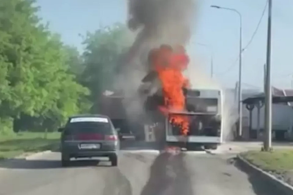
<svg viewBox="0 0 293 195">
<path fill-rule="evenodd" d="M 241 156 L 265 171 L 281 174 L 293 170 L 293 150 L 248 151 Z"/>
</svg>

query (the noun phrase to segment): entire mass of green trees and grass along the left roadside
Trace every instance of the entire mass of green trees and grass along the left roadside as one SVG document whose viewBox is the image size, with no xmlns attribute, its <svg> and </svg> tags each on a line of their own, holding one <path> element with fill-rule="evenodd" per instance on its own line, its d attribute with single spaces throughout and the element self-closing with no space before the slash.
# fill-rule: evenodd
<svg viewBox="0 0 293 195">
<path fill-rule="evenodd" d="M 44 150 L 68 116 L 99 112 L 131 44 L 124 24 L 97 23 L 79 51 L 50 31 L 40 9 L 34 0 L 0 1 L 0 158 Z"/>
</svg>

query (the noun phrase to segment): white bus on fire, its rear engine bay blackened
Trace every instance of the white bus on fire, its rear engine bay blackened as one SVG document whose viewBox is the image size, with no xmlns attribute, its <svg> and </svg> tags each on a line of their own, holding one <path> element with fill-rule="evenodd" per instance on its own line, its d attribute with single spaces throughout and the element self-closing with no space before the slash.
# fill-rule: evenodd
<svg viewBox="0 0 293 195">
<path fill-rule="evenodd" d="M 223 140 L 223 96 L 219 89 L 189 89 L 186 92 L 186 112 L 170 112 L 169 115 L 187 115 L 189 133 L 182 136 L 180 129 L 165 121 L 166 143 L 192 150 L 203 146 L 216 149 Z"/>
</svg>

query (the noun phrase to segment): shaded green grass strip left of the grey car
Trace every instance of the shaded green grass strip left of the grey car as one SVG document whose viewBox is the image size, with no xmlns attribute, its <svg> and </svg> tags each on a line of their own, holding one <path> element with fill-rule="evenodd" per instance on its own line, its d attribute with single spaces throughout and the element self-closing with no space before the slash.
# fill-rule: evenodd
<svg viewBox="0 0 293 195">
<path fill-rule="evenodd" d="M 60 142 L 60 133 L 22 132 L 0 137 L 0 159 L 13 158 L 26 152 L 39 152 L 57 149 Z"/>
</svg>

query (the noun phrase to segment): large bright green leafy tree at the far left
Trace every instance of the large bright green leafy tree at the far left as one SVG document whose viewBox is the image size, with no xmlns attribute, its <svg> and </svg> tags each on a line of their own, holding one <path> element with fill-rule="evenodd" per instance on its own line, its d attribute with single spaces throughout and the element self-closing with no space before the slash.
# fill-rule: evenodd
<svg viewBox="0 0 293 195">
<path fill-rule="evenodd" d="M 69 71 L 70 55 L 60 37 L 37 17 L 34 0 L 0 1 L 0 117 L 28 115 L 60 124 L 86 105 L 89 90 Z"/>
</svg>

